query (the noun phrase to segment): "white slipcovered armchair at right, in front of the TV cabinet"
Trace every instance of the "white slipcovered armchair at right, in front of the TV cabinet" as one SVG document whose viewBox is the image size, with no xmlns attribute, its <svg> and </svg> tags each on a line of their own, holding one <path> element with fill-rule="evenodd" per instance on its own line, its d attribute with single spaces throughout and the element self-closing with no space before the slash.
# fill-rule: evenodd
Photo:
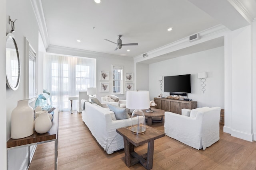
<svg viewBox="0 0 256 170">
<path fill-rule="evenodd" d="M 220 139 L 220 107 L 182 109 L 182 115 L 166 111 L 164 132 L 195 149 L 206 149 Z"/>
</svg>

